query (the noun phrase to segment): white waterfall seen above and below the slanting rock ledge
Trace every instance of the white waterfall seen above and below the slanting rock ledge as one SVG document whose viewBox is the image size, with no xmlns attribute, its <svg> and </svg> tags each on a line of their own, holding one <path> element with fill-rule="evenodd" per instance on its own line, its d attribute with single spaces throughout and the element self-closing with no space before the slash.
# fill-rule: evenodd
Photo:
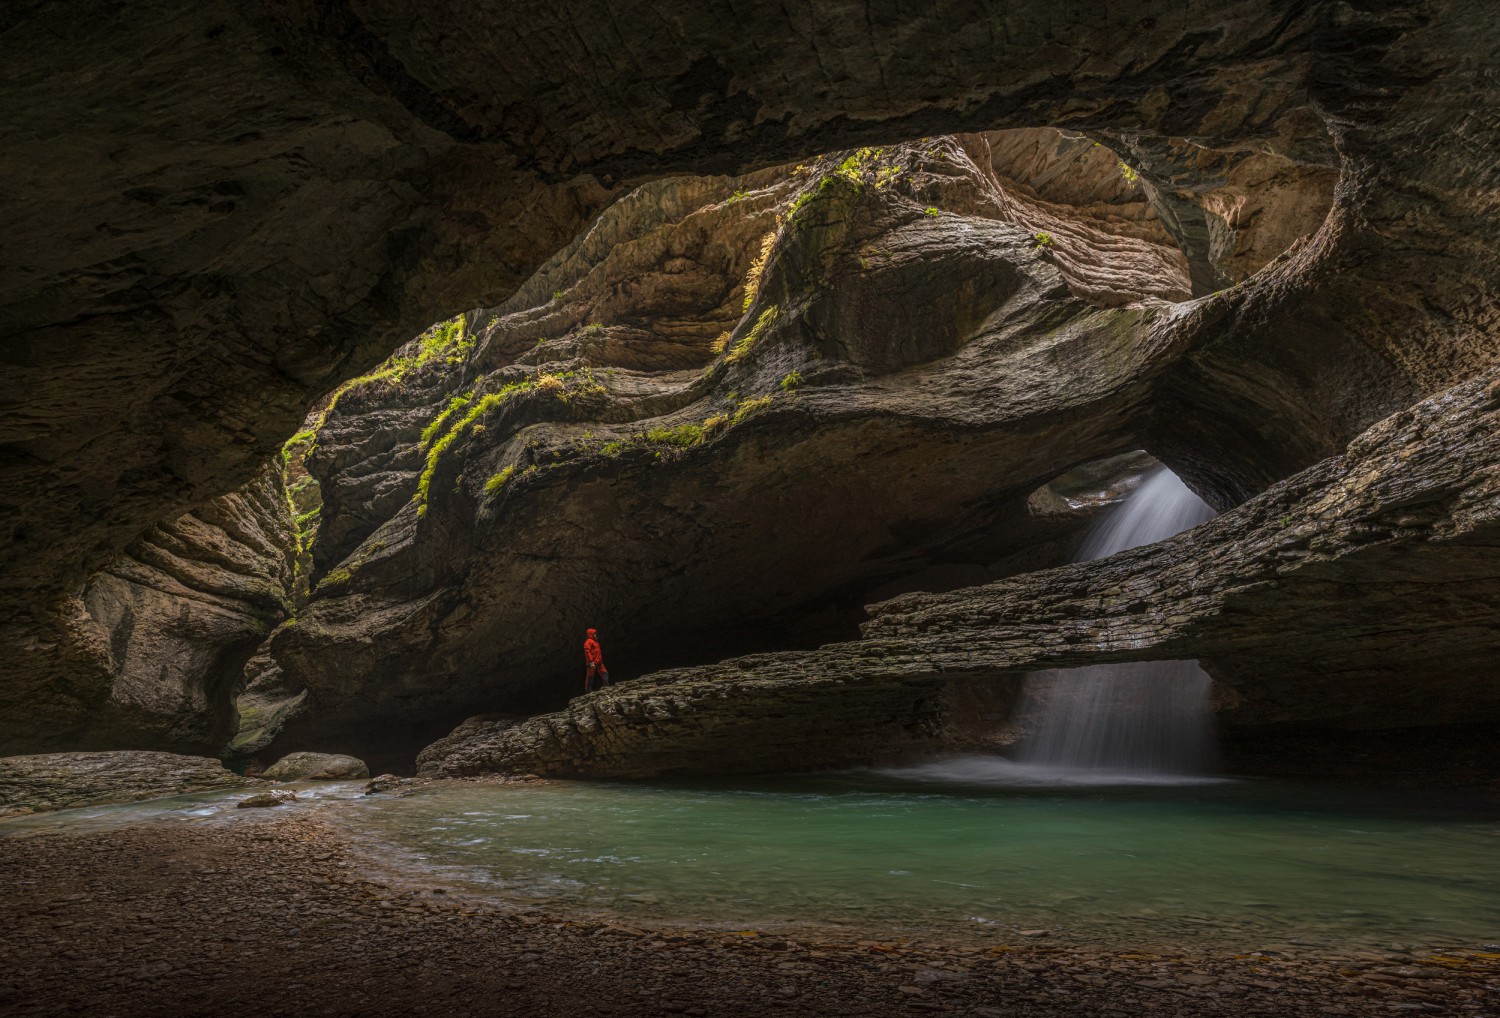
<svg viewBox="0 0 1500 1018">
<path fill-rule="evenodd" d="M 1095 525 L 1078 561 L 1152 544 L 1212 517 L 1214 510 L 1162 466 Z M 1017 757 L 1068 771 L 1202 772 L 1214 757 L 1210 690 L 1194 661 L 1034 672 L 1026 691 L 1041 709 Z"/>
</svg>

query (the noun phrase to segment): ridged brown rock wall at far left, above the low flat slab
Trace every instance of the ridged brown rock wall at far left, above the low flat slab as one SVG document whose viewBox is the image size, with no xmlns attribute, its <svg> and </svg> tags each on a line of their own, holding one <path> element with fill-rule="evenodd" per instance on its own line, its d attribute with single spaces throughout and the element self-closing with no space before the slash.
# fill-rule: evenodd
<svg viewBox="0 0 1500 1018">
<path fill-rule="evenodd" d="M 294 556 L 272 469 L 152 528 L 68 600 L 66 639 L 9 658 L 0 714 L 30 724 L 0 729 L 0 750 L 218 753 L 246 661 L 291 610 Z"/>
</svg>

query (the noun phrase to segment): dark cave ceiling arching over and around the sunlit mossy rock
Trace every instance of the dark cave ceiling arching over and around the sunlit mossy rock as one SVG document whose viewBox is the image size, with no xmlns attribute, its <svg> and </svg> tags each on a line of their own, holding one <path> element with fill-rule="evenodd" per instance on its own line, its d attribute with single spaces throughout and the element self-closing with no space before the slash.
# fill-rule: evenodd
<svg viewBox="0 0 1500 1018">
<path fill-rule="evenodd" d="M 1134 339 L 1176 358 L 1132 445 L 1236 504 L 1492 363 L 1496 31 L 1456 3 L 28 7 L 3 25 L 6 744 L 81 738 L 108 699 L 90 576 L 339 379 L 501 303 L 621 181 L 1060 126 L 1173 208 L 1203 294 L 1299 232 L 1251 192 L 1316 211 L 1304 169 L 1340 172 L 1316 237 Z"/>
</svg>

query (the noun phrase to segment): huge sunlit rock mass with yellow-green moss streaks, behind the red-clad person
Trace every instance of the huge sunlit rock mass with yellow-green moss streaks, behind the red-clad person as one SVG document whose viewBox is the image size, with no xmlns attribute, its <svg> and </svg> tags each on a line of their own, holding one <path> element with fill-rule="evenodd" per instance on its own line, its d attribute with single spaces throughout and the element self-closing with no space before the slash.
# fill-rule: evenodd
<svg viewBox="0 0 1500 1018">
<path fill-rule="evenodd" d="M 1004 144 L 652 184 L 510 306 L 342 390 L 306 459 L 316 588 L 270 643 L 306 712 L 272 750 L 555 703 L 588 625 L 627 661 L 706 663 L 810 606 L 1065 561 L 1088 513 L 1028 499 L 1138 441 L 1176 351 L 1136 286 L 1186 270 L 1166 231 L 1131 235 L 1143 208 L 1116 235 L 1078 207 L 1071 261 L 1038 243 Z"/>
</svg>

